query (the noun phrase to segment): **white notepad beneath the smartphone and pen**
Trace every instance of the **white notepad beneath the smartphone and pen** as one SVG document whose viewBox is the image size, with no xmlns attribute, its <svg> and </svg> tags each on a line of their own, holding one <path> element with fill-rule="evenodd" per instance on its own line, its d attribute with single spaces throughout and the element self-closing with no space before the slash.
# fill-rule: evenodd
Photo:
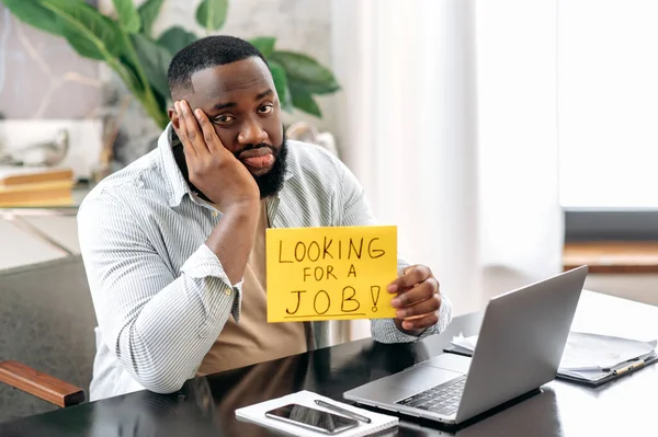
<svg viewBox="0 0 658 437">
<path fill-rule="evenodd" d="M 339 414 L 331 410 L 326 410 L 315 403 L 315 400 L 321 400 L 328 403 L 332 403 L 342 409 L 349 410 L 353 413 L 361 414 L 362 416 L 368 417 L 372 422 L 370 424 L 359 423 L 359 426 L 352 429 L 348 429 L 345 432 L 340 433 L 341 437 L 356 437 L 356 436 L 368 436 L 374 433 L 382 432 L 384 429 L 392 428 L 396 426 L 399 419 L 395 416 L 387 416 L 385 414 L 373 413 L 367 410 L 359 409 L 353 405 L 349 405 L 342 402 L 333 401 L 329 398 L 321 396 L 310 391 L 298 391 L 296 393 L 292 393 L 285 395 L 283 398 L 273 399 L 271 401 L 261 402 L 254 405 L 246 406 L 242 409 L 236 410 L 236 416 L 238 418 L 247 419 L 250 422 L 256 422 L 260 425 L 266 426 L 269 428 L 277 429 L 287 434 L 292 434 L 294 436 L 326 436 L 326 434 L 316 433 L 313 430 L 308 430 L 302 428 L 296 425 L 288 425 L 287 423 L 276 421 L 265 416 L 265 412 L 270 410 L 277 409 L 280 406 L 284 406 L 287 404 L 299 404 L 305 405 L 316 410 L 322 410 L 328 413 Z"/>
</svg>

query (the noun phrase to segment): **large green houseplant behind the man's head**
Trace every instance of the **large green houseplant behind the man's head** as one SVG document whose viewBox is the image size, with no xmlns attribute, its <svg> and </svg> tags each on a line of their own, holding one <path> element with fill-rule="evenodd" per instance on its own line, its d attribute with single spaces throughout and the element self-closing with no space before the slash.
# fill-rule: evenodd
<svg viewBox="0 0 658 437">
<path fill-rule="evenodd" d="M 80 56 L 104 61 L 161 128 L 169 122 L 167 67 L 178 50 L 198 38 L 180 26 L 154 36 L 152 26 L 164 1 L 147 0 L 137 8 L 133 0 L 113 0 L 114 20 L 84 0 L 0 0 L 19 20 L 66 38 Z M 195 16 L 211 34 L 222 28 L 227 13 L 228 0 L 203 0 Z M 250 42 L 270 64 L 284 111 L 296 107 L 321 117 L 314 95 L 339 90 L 332 72 L 307 55 L 277 50 L 274 37 Z"/>
</svg>

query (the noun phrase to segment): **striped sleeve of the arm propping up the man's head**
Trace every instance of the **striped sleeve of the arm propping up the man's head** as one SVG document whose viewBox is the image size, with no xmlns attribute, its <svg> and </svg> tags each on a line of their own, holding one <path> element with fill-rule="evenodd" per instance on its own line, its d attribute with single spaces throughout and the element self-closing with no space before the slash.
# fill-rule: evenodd
<svg viewBox="0 0 658 437">
<path fill-rule="evenodd" d="M 202 244 L 174 272 L 133 212 L 107 193 L 78 212 L 81 254 L 103 340 L 143 387 L 179 390 L 232 314 L 241 283 L 231 285 Z"/>
</svg>

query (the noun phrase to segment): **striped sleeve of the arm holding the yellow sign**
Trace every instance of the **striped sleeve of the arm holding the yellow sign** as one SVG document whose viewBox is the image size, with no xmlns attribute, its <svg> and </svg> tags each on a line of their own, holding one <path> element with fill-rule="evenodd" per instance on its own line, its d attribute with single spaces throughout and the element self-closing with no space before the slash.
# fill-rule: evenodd
<svg viewBox="0 0 658 437">
<path fill-rule="evenodd" d="M 376 225 L 370 205 L 365 198 L 365 193 L 354 174 L 339 160 L 337 161 L 340 175 L 339 185 L 339 205 L 341 212 L 341 226 L 372 226 Z M 398 256 L 398 275 L 409 264 Z M 420 335 L 409 335 L 398 330 L 393 319 L 373 319 L 371 320 L 371 332 L 373 340 L 379 343 L 409 343 L 424 338 L 428 335 L 439 334 L 447 327 L 452 320 L 452 304 L 447 297 L 440 292 L 441 308 L 439 309 L 439 322 L 426 329 Z"/>
</svg>

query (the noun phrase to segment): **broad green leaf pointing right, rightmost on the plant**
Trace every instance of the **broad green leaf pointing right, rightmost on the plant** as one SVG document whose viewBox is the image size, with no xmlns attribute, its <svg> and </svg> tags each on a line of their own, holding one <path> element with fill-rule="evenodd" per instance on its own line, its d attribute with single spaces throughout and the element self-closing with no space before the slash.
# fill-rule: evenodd
<svg viewBox="0 0 658 437">
<path fill-rule="evenodd" d="M 270 59 L 283 66 L 290 82 L 303 84 L 308 92 L 328 94 L 340 89 L 333 73 L 307 55 L 273 51 Z"/>
</svg>

